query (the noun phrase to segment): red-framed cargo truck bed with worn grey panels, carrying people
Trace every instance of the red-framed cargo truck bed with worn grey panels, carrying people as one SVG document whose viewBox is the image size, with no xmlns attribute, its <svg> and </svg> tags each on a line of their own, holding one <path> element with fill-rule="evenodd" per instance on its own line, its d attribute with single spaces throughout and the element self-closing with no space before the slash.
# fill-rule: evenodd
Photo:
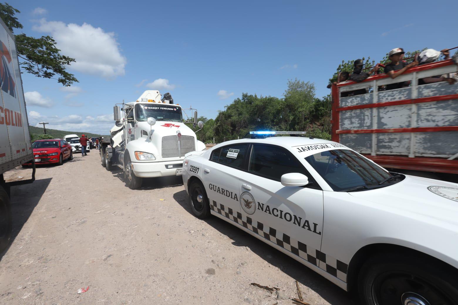
<svg viewBox="0 0 458 305">
<path fill-rule="evenodd" d="M 458 174 L 458 83 L 418 85 L 419 79 L 457 70 L 448 59 L 395 79 L 380 74 L 333 85 L 332 140 L 387 168 Z M 408 81 L 408 87 L 379 90 Z M 368 93 L 341 97 L 358 89 Z"/>
</svg>

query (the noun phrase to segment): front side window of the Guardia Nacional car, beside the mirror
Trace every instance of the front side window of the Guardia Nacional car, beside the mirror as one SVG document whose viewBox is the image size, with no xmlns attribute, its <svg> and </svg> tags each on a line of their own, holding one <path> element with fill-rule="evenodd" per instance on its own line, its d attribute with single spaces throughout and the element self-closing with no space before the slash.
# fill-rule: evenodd
<svg viewBox="0 0 458 305">
<path fill-rule="evenodd" d="M 282 175 L 299 172 L 310 179 L 304 166 L 288 150 L 274 145 L 253 144 L 248 171 L 267 179 L 280 181 Z"/>
</svg>

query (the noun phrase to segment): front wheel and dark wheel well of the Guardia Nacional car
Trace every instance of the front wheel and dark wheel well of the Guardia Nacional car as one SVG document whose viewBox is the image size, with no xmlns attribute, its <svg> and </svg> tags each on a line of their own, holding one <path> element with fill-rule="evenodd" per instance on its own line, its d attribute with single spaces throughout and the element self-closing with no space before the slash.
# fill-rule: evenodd
<svg viewBox="0 0 458 305">
<path fill-rule="evenodd" d="M 453 267 L 401 255 L 380 255 L 365 262 L 358 278 L 361 304 L 458 304 L 458 274 Z"/>
</svg>

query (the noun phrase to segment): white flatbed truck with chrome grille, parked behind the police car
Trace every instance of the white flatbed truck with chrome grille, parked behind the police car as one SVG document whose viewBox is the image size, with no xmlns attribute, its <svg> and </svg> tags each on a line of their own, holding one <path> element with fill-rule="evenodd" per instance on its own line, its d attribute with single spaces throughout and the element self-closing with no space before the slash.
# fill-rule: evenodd
<svg viewBox="0 0 458 305">
<path fill-rule="evenodd" d="M 185 154 L 206 149 L 185 125 L 181 106 L 169 93 L 161 96 L 147 90 L 135 102 L 116 104 L 111 137 L 100 141 L 102 166 L 108 171 L 119 166 L 131 189 L 140 187 L 142 178 L 180 176 Z M 195 111 L 192 123 L 202 128 L 196 120 Z"/>
</svg>

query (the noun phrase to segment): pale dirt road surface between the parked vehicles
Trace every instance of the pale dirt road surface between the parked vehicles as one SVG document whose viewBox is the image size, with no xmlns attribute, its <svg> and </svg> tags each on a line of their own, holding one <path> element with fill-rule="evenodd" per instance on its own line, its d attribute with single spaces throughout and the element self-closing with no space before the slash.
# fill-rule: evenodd
<svg viewBox="0 0 458 305">
<path fill-rule="evenodd" d="M 134 191 L 121 171 L 100 166 L 97 150 L 39 167 L 37 180 L 13 187 L 12 198 L 0 304 L 282 305 L 297 297 L 295 280 L 311 305 L 351 304 L 343 290 L 242 230 L 196 219 L 181 177 Z"/>
</svg>

